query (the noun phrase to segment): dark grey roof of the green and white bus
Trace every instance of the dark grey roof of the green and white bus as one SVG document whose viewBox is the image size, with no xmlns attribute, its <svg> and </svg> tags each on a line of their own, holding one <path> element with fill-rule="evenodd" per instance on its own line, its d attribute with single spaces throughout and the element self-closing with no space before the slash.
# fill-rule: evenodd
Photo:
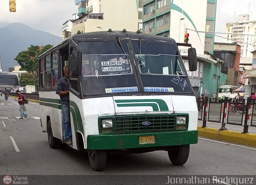
<svg viewBox="0 0 256 185">
<path fill-rule="evenodd" d="M 137 33 L 137 32 L 123 32 L 123 31 L 101 31 L 101 32 L 88 32 L 83 34 L 74 34 L 69 36 L 68 38 L 62 40 L 58 45 L 50 48 L 53 50 L 58 46 L 68 42 L 69 40 L 74 40 L 75 42 L 83 42 L 83 41 L 94 41 L 94 40 L 114 40 L 116 37 L 122 39 L 131 39 L 131 40 L 148 40 L 148 41 L 158 41 L 158 42 L 168 42 L 176 44 L 176 41 L 173 38 L 164 37 L 164 36 L 157 36 L 152 34 L 144 34 L 144 33 Z M 49 50 L 41 54 L 38 58 L 46 54 Z"/>
</svg>

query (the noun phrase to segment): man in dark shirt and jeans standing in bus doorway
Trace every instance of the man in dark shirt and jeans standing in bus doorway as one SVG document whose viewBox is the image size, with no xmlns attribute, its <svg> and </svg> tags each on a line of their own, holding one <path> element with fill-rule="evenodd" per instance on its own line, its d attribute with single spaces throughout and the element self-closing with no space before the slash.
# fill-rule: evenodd
<svg viewBox="0 0 256 185">
<path fill-rule="evenodd" d="M 62 122 L 64 128 L 65 143 L 72 144 L 72 131 L 70 122 L 70 106 L 69 106 L 69 66 L 63 68 L 65 76 L 63 76 L 56 86 L 56 94 L 60 96 L 62 104 Z"/>
</svg>

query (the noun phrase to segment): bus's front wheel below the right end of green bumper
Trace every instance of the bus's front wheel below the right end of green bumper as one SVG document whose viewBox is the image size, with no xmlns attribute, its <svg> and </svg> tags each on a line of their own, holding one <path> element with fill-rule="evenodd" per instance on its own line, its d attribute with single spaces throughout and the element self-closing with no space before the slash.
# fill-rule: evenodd
<svg viewBox="0 0 256 185">
<path fill-rule="evenodd" d="M 168 150 L 168 156 L 172 164 L 184 165 L 188 160 L 189 145 L 178 145 Z"/>
</svg>

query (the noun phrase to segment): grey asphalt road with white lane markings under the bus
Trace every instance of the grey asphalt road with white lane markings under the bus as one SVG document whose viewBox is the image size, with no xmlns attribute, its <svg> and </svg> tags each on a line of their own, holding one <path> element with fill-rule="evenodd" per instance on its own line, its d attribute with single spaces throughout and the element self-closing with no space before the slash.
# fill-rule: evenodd
<svg viewBox="0 0 256 185">
<path fill-rule="evenodd" d="M 38 103 L 27 104 L 28 117 L 20 120 L 16 118 L 20 117 L 18 104 L 12 97 L 9 100 L 0 97 L 0 175 L 256 174 L 256 148 L 206 138 L 190 145 L 190 156 L 183 166 L 172 165 L 166 151 L 154 151 L 108 155 L 104 171 L 95 172 L 85 151 L 49 147 L 38 119 Z"/>
</svg>

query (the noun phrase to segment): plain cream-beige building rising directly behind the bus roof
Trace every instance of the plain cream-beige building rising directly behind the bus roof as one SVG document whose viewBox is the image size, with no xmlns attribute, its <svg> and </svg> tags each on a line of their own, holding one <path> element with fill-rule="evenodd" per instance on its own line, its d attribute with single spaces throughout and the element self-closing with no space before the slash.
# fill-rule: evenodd
<svg viewBox="0 0 256 185">
<path fill-rule="evenodd" d="M 71 34 L 107 31 L 108 29 L 136 32 L 142 28 L 137 0 L 86 0 L 78 3 L 79 18 L 73 21 Z M 141 8 L 142 9 L 142 8 Z M 142 15 L 142 12 L 141 12 Z"/>
</svg>

